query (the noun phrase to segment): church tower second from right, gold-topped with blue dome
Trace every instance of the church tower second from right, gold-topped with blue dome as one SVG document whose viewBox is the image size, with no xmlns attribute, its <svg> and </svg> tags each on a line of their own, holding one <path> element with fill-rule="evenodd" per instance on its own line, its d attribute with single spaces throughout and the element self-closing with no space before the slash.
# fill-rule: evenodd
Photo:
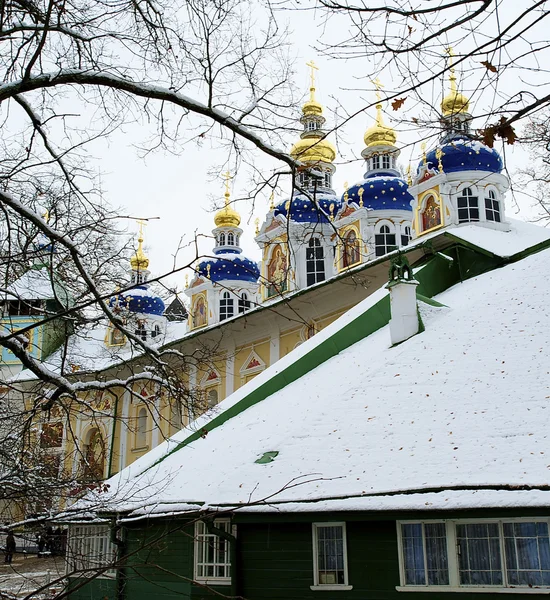
<svg viewBox="0 0 550 600">
<path fill-rule="evenodd" d="M 397 168 L 399 149 L 392 127 L 384 123 L 377 80 L 376 121 L 364 136 L 366 171 L 344 192 L 334 225 L 338 229 L 338 271 L 383 256 L 411 238 L 411 202 L 407 182 Z"/>
</svg>

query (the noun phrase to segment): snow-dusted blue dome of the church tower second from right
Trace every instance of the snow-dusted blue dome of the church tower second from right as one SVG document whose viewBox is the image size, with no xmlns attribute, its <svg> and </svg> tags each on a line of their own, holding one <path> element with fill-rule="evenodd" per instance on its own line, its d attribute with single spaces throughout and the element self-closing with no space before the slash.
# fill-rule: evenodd
<svg viewBox="0 0 550 600">
<path fill-rule="evenodd" d="M 362 195 L 360 189 L 363 189 Z M 370 210 L 410 210 L 413 197 L 409 186 L 400 177 L 368 177 L 352 185 L 342 196 L 348 204 L 353 202 Z M 362 203 L 361 203 L 362 200 Z"/>
</svg>

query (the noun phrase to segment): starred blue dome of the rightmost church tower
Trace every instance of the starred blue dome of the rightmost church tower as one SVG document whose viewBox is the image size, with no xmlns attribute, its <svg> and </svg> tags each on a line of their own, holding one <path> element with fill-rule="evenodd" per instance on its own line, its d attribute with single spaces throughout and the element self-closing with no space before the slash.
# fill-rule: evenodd
<svg viewBox="0 0 550 600">
<path fill-rule="evenodd" d="M 439 169 L 439 161 L 436 152 L 439 148 L 430 150 L 426 155 L 426 163 L 429 169 Z M 459 171 L 486 171 L 500 173 L 504 167 L 500 154 L 489 148 L 478 140 L 458 138 L 441 146 L 443 152 L 441 164 L 445 173 L 456 173 Z M 418 171 L 424 165 L 420 163 Z"/>
</svg>

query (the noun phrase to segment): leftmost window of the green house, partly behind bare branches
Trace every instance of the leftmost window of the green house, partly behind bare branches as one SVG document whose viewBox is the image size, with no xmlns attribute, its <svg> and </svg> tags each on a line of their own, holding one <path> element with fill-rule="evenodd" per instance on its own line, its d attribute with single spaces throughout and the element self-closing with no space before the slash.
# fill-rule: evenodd
<svg viewBox="0 0 550 600">
<path fill-rule="evenodd" d="M 71 525 L 67 539 L 67 575 L 96 577 L 98 570 L 116 560 L 108 525 Z M 75 572 L 76 571 L 76 572 Z M 98 577 L 113 578 L 116 569 L 106 569 Z"/>
</svg>

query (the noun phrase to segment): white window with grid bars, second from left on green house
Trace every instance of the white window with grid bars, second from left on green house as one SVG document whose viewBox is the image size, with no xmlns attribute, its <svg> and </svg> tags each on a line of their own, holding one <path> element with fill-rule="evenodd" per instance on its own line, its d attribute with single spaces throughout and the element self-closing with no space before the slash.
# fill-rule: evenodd
<svg viewBox="0 0 550 600">
<path fill-rule="evenodd" d="M 213 525 L 230 535 L 236 533 L 230 519 L 216 519 Z M 193 554 L 195 581 L 210 585 L 231 584 L 231 544 L 210 532 L 204 521 L 195 523 Z"/>
</svg>

